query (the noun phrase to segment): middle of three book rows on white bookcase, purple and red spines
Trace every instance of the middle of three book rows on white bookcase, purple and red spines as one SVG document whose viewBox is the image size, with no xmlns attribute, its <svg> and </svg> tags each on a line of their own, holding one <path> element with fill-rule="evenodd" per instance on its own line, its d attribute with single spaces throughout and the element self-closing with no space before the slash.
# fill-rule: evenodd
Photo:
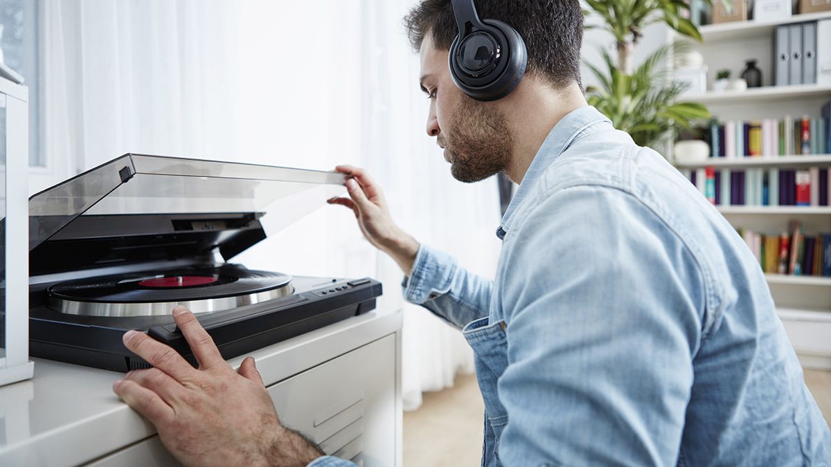
<svg viewBox="0 0 831 467">
<path fill-rule="evenodd" d="M 831 170 L 681 170 L 717 206 L 828 206 Z"/>
</svg>

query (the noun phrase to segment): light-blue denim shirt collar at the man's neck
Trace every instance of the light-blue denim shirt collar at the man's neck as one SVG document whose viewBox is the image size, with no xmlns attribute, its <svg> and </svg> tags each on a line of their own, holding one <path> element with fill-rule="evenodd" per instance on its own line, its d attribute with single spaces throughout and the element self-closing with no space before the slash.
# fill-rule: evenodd
<svg viewBox="0 0 831 467">
<path fill-rule="evenodd" d="M 539 147 L 537 155 L 534 155 L 534 160 L 531 162 L 528 171 L 525 172 L 514 198 L 511 199 L 511 203 L 502 217 L 502 222 L 499 223 L 499 229 L 496 229 L 496 236 L 500 240 L 505 238 L 505 234 L 510 229 L 514 211 L 523 203 L 531 189 L 534 188 L 539 176 L 548 168 L 548 165 L 551 165 L 559 155 L 563 154 L 574 141 L 581 138 L 589 127 L 604 122 L 607 125 L 612 125 L 612 122 L 593 106 L 584 106 L 569 112 L 568 115 L 557 122 L 557 125 L 554 125 L 545 141 L 543 141 L 543 145 Z"/>
</svg>

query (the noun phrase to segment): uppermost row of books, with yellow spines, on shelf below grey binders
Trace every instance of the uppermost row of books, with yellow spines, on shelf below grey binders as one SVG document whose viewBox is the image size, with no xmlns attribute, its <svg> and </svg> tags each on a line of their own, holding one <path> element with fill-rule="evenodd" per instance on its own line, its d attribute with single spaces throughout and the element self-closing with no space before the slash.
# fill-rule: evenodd
<svg viewBox="0 0 831 467">
<path fill-rule="evenodd" d="M 712 120 L 705 140 L 711 157 L 774 157 L 831 154 L 831 101 L 822 117 L 785 116 L 781 120 Z"/>
</svg>

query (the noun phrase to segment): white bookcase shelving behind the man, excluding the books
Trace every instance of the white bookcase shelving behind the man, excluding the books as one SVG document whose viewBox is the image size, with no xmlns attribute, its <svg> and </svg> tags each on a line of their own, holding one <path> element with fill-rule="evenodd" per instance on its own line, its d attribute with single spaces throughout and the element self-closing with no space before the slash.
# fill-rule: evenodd
<svg viewBox="0 0 831 467">
<path fill-rule="evenodd" d="M 831 86 L 771 86 L 774 82 L 773 36 L 780 24 L 831 18 L 831 12 L 795 15 L 779 22 L 730 22 L 701 27 L 703 42 L 676 33 L 670 41 L 690 42 L 708 66 L 708 89 L 717 71 L 728 69 L 740 77 L 745 61 L 755 59 L 763 73 L 764 87 L 741 92 L 687 94 L 685 101 L 701 102 L 721 121 L 782 119 L 784 116 L 820 116 L 820 107 L 831 100 Z M 705 167 L 716 170 L 831 169 L 831 155 L 785 155 L 739 159 L 710 159 L 678 165 L 680 169 Z M 790 221 L 799 220 L 806 234 L 831 233 L 831 207 L 825 206 L 719 206 L 719 212 L 736 228 L 765 234 L 786 233 Z M 779 317 L 805 366 L 831 369 L 831 278 L 767 274 Z"/>
</svg>

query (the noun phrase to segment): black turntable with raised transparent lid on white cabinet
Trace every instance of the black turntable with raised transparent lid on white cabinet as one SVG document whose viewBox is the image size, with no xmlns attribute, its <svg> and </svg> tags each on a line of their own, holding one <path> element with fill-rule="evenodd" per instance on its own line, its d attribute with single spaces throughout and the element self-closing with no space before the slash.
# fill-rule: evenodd
<svg viewBox="0 0 831 467">
<path fill-rule="evenodd" d="M 30 351 L 115 371 L 148 364 L 121 342 L 147 332 L 196 364 L 171 311 L 184 305 L 228 359 L 367 312 L 370 278 L 293 278 L 226 263 L 342 192 L 343 175 L 124 155 L 29 200 Z"/>
</svg>

